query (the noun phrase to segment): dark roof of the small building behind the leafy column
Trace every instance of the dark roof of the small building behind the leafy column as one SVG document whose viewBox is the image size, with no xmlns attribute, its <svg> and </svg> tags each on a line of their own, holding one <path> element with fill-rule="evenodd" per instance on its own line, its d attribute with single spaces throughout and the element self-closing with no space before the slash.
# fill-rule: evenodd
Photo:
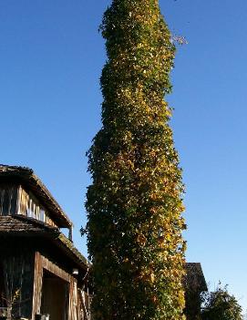
<svg viewBox="0 0 247 320">
<path fill-rule="evenodd" d="M 192 291 L 208 291 L 201 263 L 186 263 L 185 287 Z"/>
</svg>

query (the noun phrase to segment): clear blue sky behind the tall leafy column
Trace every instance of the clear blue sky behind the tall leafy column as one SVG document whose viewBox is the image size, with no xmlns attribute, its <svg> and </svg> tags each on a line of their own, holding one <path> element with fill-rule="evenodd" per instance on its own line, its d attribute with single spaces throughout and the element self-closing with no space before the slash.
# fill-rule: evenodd
<svg viewBox="0 0 247 320">
<path fill-rule="evenodd" d="M 1 0 L 0 163 L 25 165 L 78 229 L 86 222 L 85 152 L 100 128 L 98 34 L 109 0 Z M 174 139 L 187 193 L 187 259 L 247 307 L 247 2 L 160 0 L 186 36 L 172 72 Z"/>
</svg>

